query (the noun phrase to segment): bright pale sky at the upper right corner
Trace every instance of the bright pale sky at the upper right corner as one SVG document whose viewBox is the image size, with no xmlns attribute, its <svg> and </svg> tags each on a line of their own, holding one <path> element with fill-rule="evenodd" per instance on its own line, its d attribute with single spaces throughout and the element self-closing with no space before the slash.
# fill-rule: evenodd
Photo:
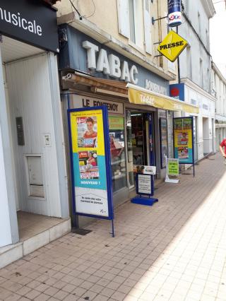
<svg viewBox="0 0 226 301">
<path fill-rule="evenodd" d="M 213 0 L 213 3 L 220 0 Z M 225 1 L 215 3 L 215 16 L 210 19 L 210 53 L 213 61 L 226 77 L 226 6 Z"/>
</svg>

